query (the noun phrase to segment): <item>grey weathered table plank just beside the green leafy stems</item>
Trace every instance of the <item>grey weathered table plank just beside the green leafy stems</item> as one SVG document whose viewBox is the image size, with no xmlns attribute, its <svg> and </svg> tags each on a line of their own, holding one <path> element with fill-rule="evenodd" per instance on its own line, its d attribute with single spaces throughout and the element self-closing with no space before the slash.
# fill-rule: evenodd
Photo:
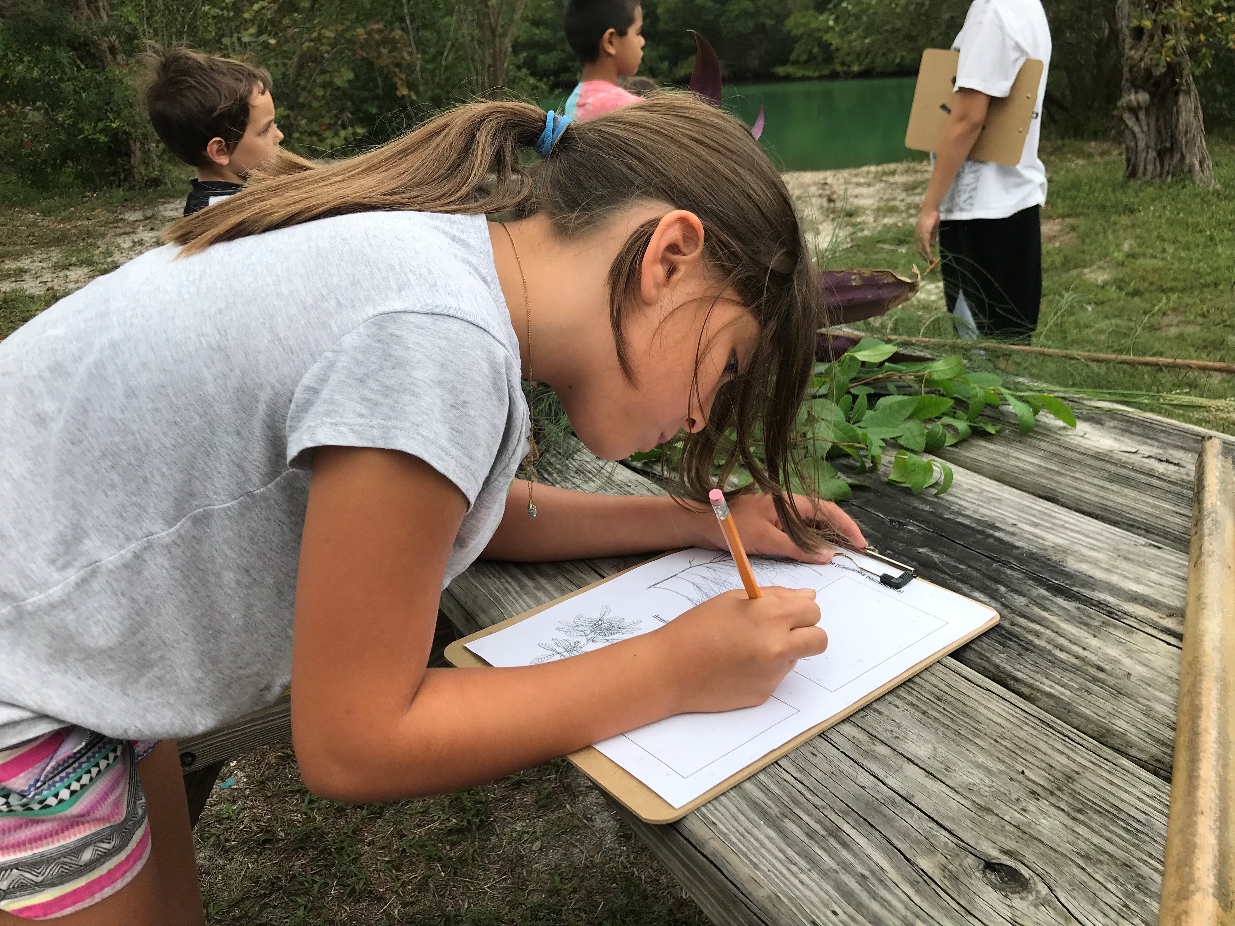
<svg viewBox="0 0 1235 926">
<path fill-rule="evenodd" d="M 1187 552 L 1192 465 L 1214 432 L 1160 419 L 1079 405 L 1077 428 L 1040 415 L 1016 436 L 1015 417 L 997 438 L 974 437 L 939 451 L 948 463 Z M 1221 435 L 1229 446 L 1235 438 Z"/>
</svg>

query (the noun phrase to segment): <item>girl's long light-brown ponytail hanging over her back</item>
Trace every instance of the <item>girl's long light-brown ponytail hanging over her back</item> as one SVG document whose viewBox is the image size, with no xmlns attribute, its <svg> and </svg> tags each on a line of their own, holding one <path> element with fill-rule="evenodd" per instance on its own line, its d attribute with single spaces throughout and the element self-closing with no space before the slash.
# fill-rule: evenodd
<svg viewBox="0 0 1235 926">
<path fill-rule="evenodd" d="M 186 256 L 350 212 L 501 212 L 529 196 L 519 152 L 534 147 L 543 131 L 545 111 L 536 106 L 478 102 L 332 164 L 283 152 L 235 196 L 177 220 L 167 240 Z M 312 177 L 304 177 L 309 170 Z"/>
</svg>

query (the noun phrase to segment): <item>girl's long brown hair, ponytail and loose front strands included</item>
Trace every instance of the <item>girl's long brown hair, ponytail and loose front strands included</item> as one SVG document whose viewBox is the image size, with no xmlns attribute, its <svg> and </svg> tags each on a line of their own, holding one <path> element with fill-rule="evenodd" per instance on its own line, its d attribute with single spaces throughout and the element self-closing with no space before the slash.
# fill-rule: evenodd
<svg viewBox="0 0 1235 926">
<path fill-rule="evenodd" d="M 824 536 L 788 504 L 799 479 L 795 417 L 810 378 L 823 295 L 781 175 L 734 116 L 687 94 L 657 93 L 589 122 L 572 123 L 550 157 L 521 157 L 545 112 L 520 102 L 450 110 L 379 148 L 332 164 L 280 158 L 230 199 L 185 216 L 168 240 L 191 254 L 220 241 L 373 210 L 543 212 L 562 237 L 582 235 L 621 210 L 666 202 L 699 216 L 704 259 L 760 327 L 742 373 L 724 385 L 706 427 L 682 440 L 677 489 L 704 500 L 739 465 L 776 500 L 781 522 L 806 549 Z M 306 173 L 308 172 L 308 173 Z M 656 222 L 636 228 L 610 273 L 618 358 L 631 367 L 622 315 L 638 288 Z"/>
</svg>

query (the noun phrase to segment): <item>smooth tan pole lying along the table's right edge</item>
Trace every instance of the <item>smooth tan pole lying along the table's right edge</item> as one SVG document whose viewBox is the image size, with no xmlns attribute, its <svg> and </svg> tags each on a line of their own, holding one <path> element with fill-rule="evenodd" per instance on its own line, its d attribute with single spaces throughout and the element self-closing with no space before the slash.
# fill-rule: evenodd
<svg viewBox="0 0 1235 926">
<path fill-rule="evenodd" d="M 1161 926 L 1235 922 L 1235 474 L 1197 459 Z"/>
</svg>

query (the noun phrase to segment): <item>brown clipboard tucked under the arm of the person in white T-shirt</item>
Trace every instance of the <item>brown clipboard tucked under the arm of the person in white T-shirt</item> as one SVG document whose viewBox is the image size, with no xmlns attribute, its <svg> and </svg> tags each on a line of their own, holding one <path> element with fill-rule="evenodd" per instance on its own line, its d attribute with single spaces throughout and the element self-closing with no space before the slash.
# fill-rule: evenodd
<svg viewBox="0 0 1235 926">
<path fill-rule="evenodd" d="M 952 90 L 960 52 L 927 48 L 918 69 L 914 105 L 909 111 L 905 147 L 914 151 L 939 151 L 944 123 L 951 114 Z M 1025 138 L 1032 125 L 1037 104 L 1037 88 L 1042 83 L 1042 62 L 1030 58 L 1016 74 L 1007 96 L 990 98 L 982 135 L 969 151 L 971 161 L 995 164 L 1019 164 L 1025 152 Z"/>
</svg>

